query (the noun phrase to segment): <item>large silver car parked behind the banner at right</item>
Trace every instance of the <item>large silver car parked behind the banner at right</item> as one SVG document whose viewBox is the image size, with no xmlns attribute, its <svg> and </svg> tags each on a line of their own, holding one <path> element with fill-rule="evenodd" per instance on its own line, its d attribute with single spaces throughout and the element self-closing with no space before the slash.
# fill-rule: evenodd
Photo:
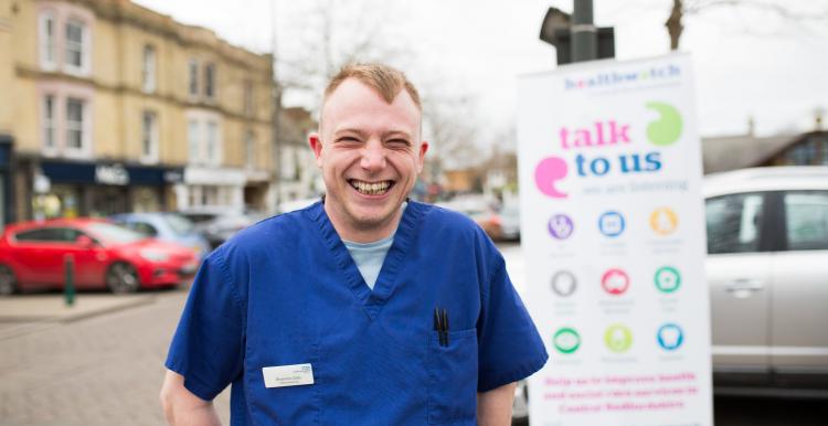
<svg viewBox="0 0 828 426">
<path fill-rule="evenodd" d="M 704 180 L 716 393 L 828 396 L 828 167 Z"/>
</svg>

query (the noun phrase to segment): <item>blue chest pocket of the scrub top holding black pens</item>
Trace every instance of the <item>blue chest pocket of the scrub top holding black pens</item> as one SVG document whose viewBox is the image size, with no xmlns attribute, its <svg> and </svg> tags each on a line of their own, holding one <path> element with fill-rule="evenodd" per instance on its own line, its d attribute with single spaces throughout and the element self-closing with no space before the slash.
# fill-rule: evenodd
<svg viewBox="0 0 828 426">
<path fill-rule="evenodd" d="M 428 424 L 467 424 L 477 414 L 477 329 L 428 339 Z"/>
</svg>

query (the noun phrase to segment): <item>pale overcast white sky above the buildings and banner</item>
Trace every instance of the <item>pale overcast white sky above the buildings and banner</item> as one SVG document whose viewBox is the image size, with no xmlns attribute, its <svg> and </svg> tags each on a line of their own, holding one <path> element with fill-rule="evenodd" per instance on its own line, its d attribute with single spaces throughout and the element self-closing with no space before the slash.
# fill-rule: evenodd
<svg viewBox="0 0 828 426">
<path fill-rule="evenodd" d="M 309 47 L 320 39 L 311 1 L 135 1 L 255 52 L 275 45 L 277 57 L 294 62 L 322 55 Z M 350 10 L 353 1 L 328 2 L 340 11 L 331 24 L 335 50 L 352 49 L 359 39 L 352 34 L 380 28 L 375 41 L 395 54 L 391 64 L 425 92 L 471 99 L 458 119 L 468 117 L 492 137 L 514 126 L 516 78 L 556 66 L 554 49 L 538 38 L 546 9 L 572 10 L 572 0 L 364 0 Z M 797 12 L 828 11 L 828 0 L 779 2 Z M 595 0 L 595 23 L 615 28 L 617 60 L 658 56 L 669 52 L 670 6 Z M 702 136 L 743 135 L 751 117 L 758 136 L 809 131 L 818 108 L 828 121 L 828 13 L 794 21 L 753 8 L 711 9 L 686 18 L 680 50 L 692 55 Z M 285 103 L 312 106 L 301 95 Z"/>
</svg>

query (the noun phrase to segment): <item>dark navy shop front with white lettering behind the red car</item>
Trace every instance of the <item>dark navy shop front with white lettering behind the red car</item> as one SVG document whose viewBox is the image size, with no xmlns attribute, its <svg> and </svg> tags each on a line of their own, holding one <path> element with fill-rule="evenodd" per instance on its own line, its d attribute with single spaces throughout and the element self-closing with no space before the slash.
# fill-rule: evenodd
<svg viewBox="0 0 828 426">
<path fill-rule="evenodd" d="M 117 162 L 41 161 L 33 179 L 34 219 L 106 216 L 176 210 L 182 168 Z"/>
</svg>

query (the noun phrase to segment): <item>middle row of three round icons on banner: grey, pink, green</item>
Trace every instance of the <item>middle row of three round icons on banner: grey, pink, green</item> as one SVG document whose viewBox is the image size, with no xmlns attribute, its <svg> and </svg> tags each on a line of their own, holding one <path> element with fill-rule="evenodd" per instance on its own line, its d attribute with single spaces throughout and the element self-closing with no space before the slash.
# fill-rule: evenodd
<svg viewBox="0 0 828 426">
<path fill-rule="evenodd" d="M 656 288 L 670 294 L 681 287 L 681 274 L 672 266 L 662 266 L 652 276 Z M 601 287 L 609 295 L 619 296 L 629 289 L 629 275 L 620 268 L 607 269 L 601 277 Z M 569 270 L 559 270 L 552 276 L 552 291 L 560 297 L 569 297 L 577 290 L 577 278 Z"/>
</svg>

